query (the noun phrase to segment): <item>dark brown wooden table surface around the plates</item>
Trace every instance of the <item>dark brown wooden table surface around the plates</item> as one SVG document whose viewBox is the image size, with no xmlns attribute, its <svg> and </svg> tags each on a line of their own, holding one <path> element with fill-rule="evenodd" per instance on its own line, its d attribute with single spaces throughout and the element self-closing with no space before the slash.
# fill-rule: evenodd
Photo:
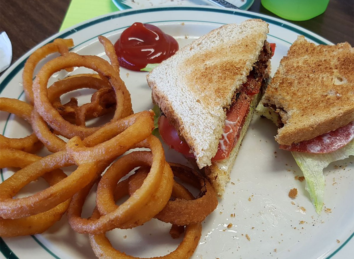
<svg viewBox="0 0 354 259">
<path fill-rule="evenodd" d="M 12 63 L 33 46 L 58 32 L 70 0 L 2 0 L 0 31 L 12 42 Z M 278 17 L 256 0 L 249 11 Z M 354 45 L 354 1 L 330 0 L 322 15 L 303 22 L 292 22 L 333 43 L 348 41 Z"/>
</svg>

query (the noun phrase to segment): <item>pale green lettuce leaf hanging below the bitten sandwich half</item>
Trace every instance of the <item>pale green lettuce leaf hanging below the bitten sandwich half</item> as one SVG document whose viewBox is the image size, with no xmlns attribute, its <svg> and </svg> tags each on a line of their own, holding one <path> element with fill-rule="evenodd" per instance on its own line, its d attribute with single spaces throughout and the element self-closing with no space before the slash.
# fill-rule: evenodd
<svg viewBox="0 0 354 259">
<path fill-rule="evenodd" d="M 316 212 L 320 214 L 323 206 L 325 189 L 325 177 L 322 171 L 330 163 L 354 155 L 354 140 L 343 146 L 343 148 L 327 154 L 312 154 L 294 151 L 291 152 L 291 154 L 304 174 L 306 180 L 305 190 L 309 192 Z"/>
</svg>

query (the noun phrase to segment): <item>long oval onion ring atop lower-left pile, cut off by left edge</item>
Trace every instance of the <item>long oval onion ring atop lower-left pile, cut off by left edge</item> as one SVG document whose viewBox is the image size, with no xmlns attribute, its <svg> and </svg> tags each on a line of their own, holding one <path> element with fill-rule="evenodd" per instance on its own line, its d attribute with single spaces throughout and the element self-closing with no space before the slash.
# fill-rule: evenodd
<svg viewBox="0 0 354 259">
<path fill-rule="evenodd" d="M 75 163 L 65 151 L 43 157 L 17 171 L 0 184 L 0 217 L 16 219 L 48 211 L 71 198 L 89 184 L 99 170 L 93 163 L 79 165 L 68 177 L 36 194 L 23 198 L 12 197 L 25 185 L 43 174 Z"/>
</svg>

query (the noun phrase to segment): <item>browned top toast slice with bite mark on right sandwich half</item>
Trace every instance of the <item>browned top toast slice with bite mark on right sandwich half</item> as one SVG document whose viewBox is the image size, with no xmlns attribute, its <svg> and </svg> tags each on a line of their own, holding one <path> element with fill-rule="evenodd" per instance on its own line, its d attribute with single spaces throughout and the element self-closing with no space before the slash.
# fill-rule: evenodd
<svg viewBox="0 0 354 259">
<path fill-rule="evenodd" d="M 315 45 L 299 36 L 282 58 L 263 104 L 276 107 L 284 127 L 276 141 L 291 145 L 354 120 L 354 48 Z"/>
</svg>

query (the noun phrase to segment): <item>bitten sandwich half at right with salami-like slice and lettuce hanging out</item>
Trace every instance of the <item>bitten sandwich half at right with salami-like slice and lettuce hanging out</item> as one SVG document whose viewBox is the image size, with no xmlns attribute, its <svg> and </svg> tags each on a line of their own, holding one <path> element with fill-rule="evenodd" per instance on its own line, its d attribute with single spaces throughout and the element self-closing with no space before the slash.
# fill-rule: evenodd
<svg viewBox="0 0 354 259">
<path fill-rule="evenodd" d="M 279 126 L 275 140 L 292 152 L 320 213 L 322 170 L 354 155 L 354 48 L 348 42 L 315 45 L 298 36 L 257 112 Z"/>
</svg>

